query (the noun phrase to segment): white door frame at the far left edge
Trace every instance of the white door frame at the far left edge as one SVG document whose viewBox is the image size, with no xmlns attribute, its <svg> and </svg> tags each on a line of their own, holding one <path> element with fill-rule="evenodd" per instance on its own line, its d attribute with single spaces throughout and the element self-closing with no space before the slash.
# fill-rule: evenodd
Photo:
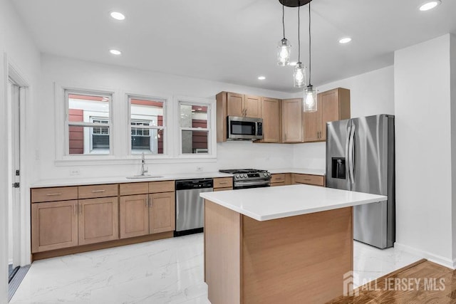
<svg viewBox="0 0 456 304">
<path fill-rule="evenodd" d="M 19 266 L 26 266 L 31 263 L 31 245 L 30 245 L 30 208 L 27 201 L 30 201 L 30 187 L 28 183 L 28 174 L 26 170 L 27 158 L 26 151 L 28 150 L 28 143 L 26 140 L 26 104 L 28 96 L 30 95 L 30 87 L 28 80 L 24 78 L 24 73 L 8 58 L 5 54 L 5 66 L 7 67 L 7 74 L 5 79 L 5 87 L 7 82 L 11 79 L 16 85 L 19 85 L 19 183 L 20 183 L 20 198 L 19 205 L 16 212 L 14 212 L 14 252 L 15 259 L 19 261 Z M 11 111 L 14 108 L 11 105 Z M 8 113 L 12 115 L 13 113 Z M 8 147 L 11 149 L 11 147 Z M 11 174 L 11 172 L 9 172 Z M 11 185 L 7 185 L 11 187 Z M 17 252 L 19 251 L 19 252 Z"/>
</svg>

